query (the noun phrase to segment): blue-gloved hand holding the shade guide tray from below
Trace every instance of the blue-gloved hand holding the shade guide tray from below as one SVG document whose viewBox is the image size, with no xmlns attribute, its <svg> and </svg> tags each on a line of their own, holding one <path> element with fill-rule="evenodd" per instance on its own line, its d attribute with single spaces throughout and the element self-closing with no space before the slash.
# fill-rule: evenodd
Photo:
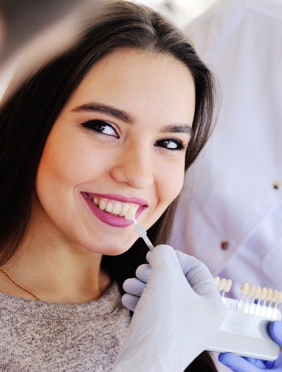
<svg viewBox="0 0 282 372">
<path fill-rule="evenodd" d="M 275 320 L 271 322 L 268 331 L 273 340 L 282 346 L 282 322 Z M 259 372 L 266 371 L 282 371 L 282 353 L 280 352 L 278 358 L 273 361 L 261 360 L 255 358 L 248 358 L 239 356 L 230 352 L 219 354 L 218 360 L 231 368 L 234 372 Z"/>
</svg>

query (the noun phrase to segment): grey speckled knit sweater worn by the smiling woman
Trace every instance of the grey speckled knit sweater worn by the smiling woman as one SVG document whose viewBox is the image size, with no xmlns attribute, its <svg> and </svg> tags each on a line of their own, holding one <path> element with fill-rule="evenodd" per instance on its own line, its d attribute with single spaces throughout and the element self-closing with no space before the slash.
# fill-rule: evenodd
<svg viewBox="0 0 282 372">
<path fill-rule="evenodd" d="M 110 371 L 129 322 L 116 283 L 83 304 L 0 293 L 0 371 Z"/>
</svg>

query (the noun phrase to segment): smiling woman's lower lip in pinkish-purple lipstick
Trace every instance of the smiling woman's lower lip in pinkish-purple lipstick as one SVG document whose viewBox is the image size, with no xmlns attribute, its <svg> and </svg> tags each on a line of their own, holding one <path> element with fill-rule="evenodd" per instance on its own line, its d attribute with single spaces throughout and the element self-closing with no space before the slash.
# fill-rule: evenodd
<svg viewBox="0 0 282 372">
<path fill-rule="evenodd" d="M 96 204 L 94 204 L 83 192 L 81 192 L 83 199 L 88 205 L 90 211 L 95 214 L 95 216 L 100 219 L 100 221 L 107 223 L 108 225 L 114 227 L 127 227 L 132 225 L 133 221 L 126 219 L 125 217 L 115 216 L 105 210 L 100 209 Z M 146 206 L 141 206 L 138 208 L 135 218 L 138 218 Z"/>
</svg>

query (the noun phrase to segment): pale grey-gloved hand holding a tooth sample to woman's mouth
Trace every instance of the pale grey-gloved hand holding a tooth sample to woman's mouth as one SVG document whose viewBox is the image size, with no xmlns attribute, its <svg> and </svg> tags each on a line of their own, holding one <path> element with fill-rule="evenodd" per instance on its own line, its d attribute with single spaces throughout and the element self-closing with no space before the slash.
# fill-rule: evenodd
<svg viewBox="0 0 282 372">
<path fill-rule="evenodd" d="M 137 270 L 147 284 L 135 278 L 124 285 L 130 294 L 123 303 L 135 312 L 113 371 L 182 372 L 211 343 L 225 306 L 194 257 L 161 244 L 147 261 Z"/>
</svg>

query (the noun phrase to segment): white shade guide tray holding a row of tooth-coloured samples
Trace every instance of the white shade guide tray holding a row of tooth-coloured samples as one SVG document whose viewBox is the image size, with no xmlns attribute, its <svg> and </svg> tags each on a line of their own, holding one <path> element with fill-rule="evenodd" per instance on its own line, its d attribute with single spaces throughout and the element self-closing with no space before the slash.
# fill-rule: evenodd
<svg viewBox="0 0 282 372">
<path fill-rule="evenodd" d="M 282 303 L 282 292 L 244 283 L 240 299 L 235 300 L 225 296 L 226 289 L 230 290 L 232 285 L 230 279 L 215 277 L 214 282 L 217 289 L 223 291 L 226 316 L 207 350 L 233 352 L 258 359 L 276 359 L 280 348 L 270 337 L 268 326 L 271 320 L 282 319 L 281 311 L 277 309 L 277 305 Z M 258 300 L 257 304 L 255 300 Z M 263 305 L 260 305 L 261 301 Z"/>
</svg>

